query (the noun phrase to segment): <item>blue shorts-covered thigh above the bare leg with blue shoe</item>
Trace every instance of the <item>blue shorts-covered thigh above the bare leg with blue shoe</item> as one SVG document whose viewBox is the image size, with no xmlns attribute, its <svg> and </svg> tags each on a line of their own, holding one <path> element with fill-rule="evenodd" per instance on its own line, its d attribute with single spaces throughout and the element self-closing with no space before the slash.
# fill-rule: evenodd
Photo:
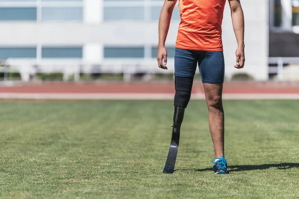
<svg viewBox="0 0 299 199">
<path fill-rule="evenodd" d="M 203 83 L 222 84 L 224 81 L 224 56 L 221 51 L 205 51 L 199 64 Z"/>
</svg>

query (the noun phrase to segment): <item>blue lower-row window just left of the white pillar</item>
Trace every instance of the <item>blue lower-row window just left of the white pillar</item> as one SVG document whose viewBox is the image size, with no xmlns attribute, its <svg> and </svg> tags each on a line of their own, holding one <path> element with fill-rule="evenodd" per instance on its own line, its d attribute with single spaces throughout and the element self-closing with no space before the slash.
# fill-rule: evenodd
<svg viewBox="0 0 299 199">
<path fill-rule="evenodd" d="M 42 47 L 42 58 L 82 58 L 82 47 Z"/>
</svg>

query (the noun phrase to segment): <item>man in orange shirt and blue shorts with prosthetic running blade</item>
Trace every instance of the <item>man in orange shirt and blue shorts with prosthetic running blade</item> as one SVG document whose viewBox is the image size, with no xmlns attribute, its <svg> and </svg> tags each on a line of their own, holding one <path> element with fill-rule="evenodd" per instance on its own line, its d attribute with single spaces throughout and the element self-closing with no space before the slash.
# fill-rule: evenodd
<svg viewBox="0 0 299 199">
<path fill-rule="evenodd" d="M 240 0 L 228 0 L 228 2 L 238 43 L 234 67 L 241 69 L 245 62 L 244 15 Z M 224 57 L 221 24 L 225 3 L 226 0 L 179 0 L 181 22 L 178 28 L 174 57 L 175 96 L 172 133 L 174 135 L 180 131 L 198 64 L 209 110 L 209 127 L 216 157 L 212 159 L 215 174 L 229 173 L 227 161 L 224 158 L 224 111 L 222 106 Z M 175 4 L 176 0 L 165 0 L 160 13 L 157 61 L 161 69 L 167 69 L 167 51 L 164 44 Z"/>
</svg>

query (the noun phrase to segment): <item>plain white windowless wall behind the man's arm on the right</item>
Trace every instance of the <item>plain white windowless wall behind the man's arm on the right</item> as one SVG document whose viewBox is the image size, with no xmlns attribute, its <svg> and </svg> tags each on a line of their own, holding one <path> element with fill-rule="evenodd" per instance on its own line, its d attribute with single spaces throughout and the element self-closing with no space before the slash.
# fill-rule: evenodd
<svg viewBox="0 0 299 199">
<path fill-rule="evenodd" d="M 227 74 L 246 72 L 256 80 L 268 80 L 268 0 L 241 0 L 245 15 L 245 68 L 235 69 L 236 38 L 232 28 L 230 10 L 226 4 L 223 20 L 223 45 Z"/>
</svg>

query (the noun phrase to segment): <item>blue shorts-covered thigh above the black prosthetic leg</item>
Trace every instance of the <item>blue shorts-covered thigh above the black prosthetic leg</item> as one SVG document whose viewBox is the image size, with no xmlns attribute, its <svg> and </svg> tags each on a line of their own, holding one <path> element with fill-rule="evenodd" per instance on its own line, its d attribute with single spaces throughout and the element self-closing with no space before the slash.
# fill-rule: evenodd
<svg viewBox="0 0 299 199">
<path fill-rule="evenodd" d="M 177 77 L 190 77 L 195 75 L 197 66 L 197 53 L 193 50 L 176 48 L 174 55 L 174 75 Z"/>
</svg>

